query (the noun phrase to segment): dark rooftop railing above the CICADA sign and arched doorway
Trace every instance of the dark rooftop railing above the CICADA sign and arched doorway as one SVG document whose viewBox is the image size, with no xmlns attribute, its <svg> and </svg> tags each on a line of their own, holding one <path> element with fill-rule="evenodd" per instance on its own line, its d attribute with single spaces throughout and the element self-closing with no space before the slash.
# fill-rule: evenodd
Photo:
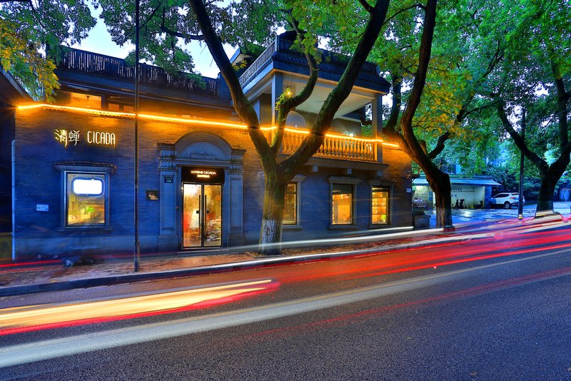
<svg viewBox="0 0 571 381">
<path fill-rule="evenodd" d="M 173 75 L 167 73 L 163 68 L 147 64 L 139 64 L 138 67 L 139 83 L 143 85 L 186 90 L 209 96 L 218 95 L 218 80 L 215 78 L 196 79 L 189 77 L 188 73 Z M 134 81 L 135 79 L 135 66 L 128 65 L 124 59 L 77 49 L 71 49 L 64 54 L 58 68 L 98 74 L 120 81 Z"/>
</svg>

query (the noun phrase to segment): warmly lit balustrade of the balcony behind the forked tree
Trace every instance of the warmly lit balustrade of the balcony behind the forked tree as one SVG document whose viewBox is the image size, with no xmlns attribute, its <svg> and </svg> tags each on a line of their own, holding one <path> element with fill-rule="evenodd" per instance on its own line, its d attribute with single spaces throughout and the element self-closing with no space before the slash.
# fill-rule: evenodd
<svg viewBox="0 0 571 381">
<path fill-rule="evenodd" d="M 290 154 L 295 152 L 305 136 L 307 134 L 301 133 L 301 131 L 300 133 L 285 131 L 281 153 Z M 372 140 L 366 141 L 349 136 L 326 136 L 325 141 L 323 141 L 314 157 L 352 161 L 377 161 L 377 144 Z"/>
</svg>

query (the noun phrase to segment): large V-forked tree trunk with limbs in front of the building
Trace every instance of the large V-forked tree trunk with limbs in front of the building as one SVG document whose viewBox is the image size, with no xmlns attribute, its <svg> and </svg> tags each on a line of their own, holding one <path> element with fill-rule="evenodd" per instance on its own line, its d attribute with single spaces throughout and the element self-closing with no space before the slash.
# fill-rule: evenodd
<svg viewBox="0 0 571 381">
<path fill-rule="evenodd" d="M 1 0 L 0 0 L 1 1 Z M 370 16 L 360 36 L 355 51 L 350 56 L 349 63 L 343 71 L 337 85 L 329 93 L 321 107 L 318 115 L 315 117 L 313 128 L 310 134 L 303 140 L 300 147 L 284 161 L 278 163 L 276 156 L 283 137 L 278 131 L 276 139 L 273 141 L 273 146 L 270 146 L 266 140 L 266 136 L 260 128 L 258 115 L 253 108 L 248 97 L 243 93 L 236 70 L 232 66 L 228 56 L 224 52 L 222 40 L 218 36 L 216 29 L 213 27 L 210 15 L 206 9 L 204 1 L 191 0 L 190 4 L 196 15 L 196 20 L 201 28 L 203 38 L 211 51 L 214 61 L 220 68 L 221 74 L 228 84 L 232 96 L 233 107 L 246 125 L 248 125 L 248 133 L 251 140 L 256 147 L 256 152 L 261 159 L 262 167 L 264 170 L 265 189 L 264 189 L 264 203 L 263 203 L 263 216 L 261 225 L 261 234 L 259 241 L 258 252 L 262 255 L 276 255 L 281 253 L 281 230 L 283 218 L 283 203 L 285 196 L 285 188 L 288 181 L 295 176 L 300 168 L 313 156 L 325 140 L 325 133 L 330 128 L 330 122 L 335 117 L 335 113 L 340 108 L 341 104 L 349 96 L 355 80 L 361 71 L 371 49 L 375 45 L 388 11 L 389 0 L 378 0 L 375 6 L 365 6 Z M 436 5 L 436 0 L 428 0 Z M 294 28 L 297 29 L 297 21 L 294 20 Z M 298 31 L 299 32 L 299 31 Z M 295 96 L 290 101 L 280 103 L 280 127 L 284 127 L 282 122 L 285 122 L 285 116 L 290 109 L 303 103 L 313 91 L 313 86 L 318 78 L 315 61 L 308 57 L 308 65 L 310 67 L 310 78 L 308 85 L 303 88 L 303 91 Z"/>
</svg>

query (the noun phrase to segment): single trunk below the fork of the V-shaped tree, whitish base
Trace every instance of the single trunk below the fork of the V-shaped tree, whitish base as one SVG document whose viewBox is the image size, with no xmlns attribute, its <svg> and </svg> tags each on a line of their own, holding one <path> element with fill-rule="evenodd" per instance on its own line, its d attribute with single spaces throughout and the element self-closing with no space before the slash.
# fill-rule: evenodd
<svg viewBox="0 0 571 381">
<path fill-rule="evenodd" d="M 269 176 L 266 177 L 264 183 L 262 226 L 258 253 L 260 255 L 280 255 L 283 203 L 287 183 L 280 183 Z"/>
</svg>

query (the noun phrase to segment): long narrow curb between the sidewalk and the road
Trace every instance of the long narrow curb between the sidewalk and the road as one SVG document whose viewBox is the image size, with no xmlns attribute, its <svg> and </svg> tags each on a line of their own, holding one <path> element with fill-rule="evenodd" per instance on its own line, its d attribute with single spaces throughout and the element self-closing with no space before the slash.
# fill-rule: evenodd
<svg viewBox="0 0 571 381">
<path fill-rule="evenodd" d="M 469 235 L 463 237 L 449 237 L 449 239 L 444 239 L 444 240 L 448 242 L 462 242 L 465 240 L 486 238 L 490 237 L 491 235 L 492 234 L 490 233 L 485 233 L 485 234 Z M 95 278 L 81 278 L 81 279 L 73 279 L 73 280 L 51 282 L 51 283 L 34 283 L 31 285 L 15 285 L 4 288 L 0 287 L 0 297 L 24 295 L 31 293 L 44 293 L 49 291 L 74 290 L 76 288 L 90 288 L 102 285 L 118 285 L 121 283 L 140 282 L 143 280 L 159 280 L 159 279 L 169 279 L 169 278 L 183 278 L 193 275 L 227 273 L 233 270 L 248 270 L 251 268 L 261 268 L 263 266 L 271 266 L 271 265 L 285 265 L 288 263 L 301 263 L 301 262 L 308 263 L 318 260 L 328 260 L 334 258 L 351 258 L 360 255 L 374 255 L 374 254 L 385 253 L 392 250 L 415 248 L 418 246 L 430 244 L 432 241 L 435 240 L 437 239 L 422 240 L 416 243 L 391 245 L 380 248 L 340 251 L 337 253 L 317 253 L 317 254 L 288 255 L 288 256 L 282 255 L 272 258 L 246 260 L 243 262 L 235 262 L 235 263 L 223 263 L 221 265 L 208 265 L 197 268 L 184 268 L 180 270 L 165 270 L 160 272 L 132 273 L 132 274 L 123 274 L 123 275 L 101 276 Z M 443 238 L 438 238 L 438 241 L 442 242 Z"/>
</svg>

